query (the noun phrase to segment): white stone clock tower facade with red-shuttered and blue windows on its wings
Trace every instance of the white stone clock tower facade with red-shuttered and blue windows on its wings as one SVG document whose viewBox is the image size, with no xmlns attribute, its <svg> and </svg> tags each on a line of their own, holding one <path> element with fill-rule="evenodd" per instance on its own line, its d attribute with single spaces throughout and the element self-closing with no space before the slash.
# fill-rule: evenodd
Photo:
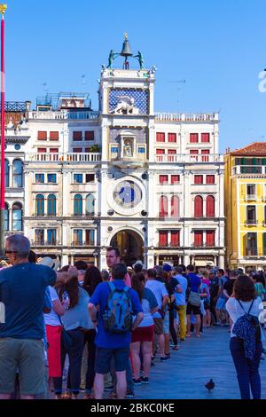
<svg viewBox="0 0 266 417">
<path fill-rule="evenodd" d="M 19 151 L 7 131 L 6 159 L 23 162 L 20 189 L 10 174 L 10 218 L 20 201 L 23 232 L 39 255 L 103 269 L 115 243 L 128 264 L 223 267 L 218 114 L 155 114 L 154 84 L 154 71 L 103 69 L 99 112 L 28 112 Z"/>
</svg>

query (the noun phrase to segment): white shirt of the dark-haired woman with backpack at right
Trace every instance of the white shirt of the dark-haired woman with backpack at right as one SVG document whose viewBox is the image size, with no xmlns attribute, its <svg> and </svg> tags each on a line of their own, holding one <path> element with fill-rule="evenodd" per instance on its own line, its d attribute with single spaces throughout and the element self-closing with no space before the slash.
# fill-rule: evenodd
<svg viewBox="0 0 266 417">
<path fill-rule="evenodd" d="M 240 300 L 240 303 L 242 304 L 244 310 L 240 306 L 238 300 L 236 300 L 235 298 L 230 298 L 228 302 L 226 303 L 226 310 L 228 311 L 231 317 L 231 320 L 233 322 L 233 325 L 231 327 L 231 337 L 237 337 L 236 334 L 233 333 L 233 327 L 235 323 L 237 322 L 237 320 L 239 319 L 239 317 L 242 317 L 245 315 L 245 311 L 246 313 L 248 313 L 250 306 L 252 304 L 252 301 L 246 302 L 246 301 Z M 262 303 L 262 300 L 260 298 L 257 298 L 256 300 L 254 300 L 252 309 L 250 311 L 250 314 L 252 316 L 259 317 L 261 311 L 263 310 L 263 306 L 260 305 L 261 303 Z M 262 334 L 262 340 L 264 340 L 263 332 L 261 332 L 261 334 Z"/>
</svg>

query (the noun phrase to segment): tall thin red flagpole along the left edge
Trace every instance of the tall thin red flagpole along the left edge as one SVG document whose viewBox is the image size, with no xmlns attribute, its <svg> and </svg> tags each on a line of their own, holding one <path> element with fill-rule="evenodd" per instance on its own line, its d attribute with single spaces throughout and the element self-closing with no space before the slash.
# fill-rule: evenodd
<svg viewBox="0 0 266 417">
<path fill-rule="evenodd" d="M 4 13 L 6 4 L 0 4 L 1 21 L 1 189 L 0 189 L 0 256 L 4 256 L 4 202 L 5 202 L 5 107 L 4 107 Z"/>
</svg>

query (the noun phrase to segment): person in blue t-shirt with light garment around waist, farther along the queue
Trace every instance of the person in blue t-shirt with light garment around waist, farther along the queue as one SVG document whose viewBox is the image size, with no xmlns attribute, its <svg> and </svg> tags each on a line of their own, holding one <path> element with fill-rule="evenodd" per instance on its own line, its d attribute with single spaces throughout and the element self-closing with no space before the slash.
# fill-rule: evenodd
<svg viewBox="0 0 266 417">
<path fill-rule="evenodd" d="M 190 291 L 191 293 L 197 293 L 200 294 L 200 285 L 201 285 L 201 279 L 200 277 L 198 277 L 198 275 L 196 275 L 194 273 L 194 267 L 193 265 L 189 265 L 186 269 L 187 272 L 187 276 L 188 276 L 188 280 L 190 283 Z M 189 298 L 189 302 L 187 303 L 187 307 L 186 307 L 186 319 L 187 319 L 187 337 L 190 337 L 191 334 L 191 316 L 193 315 L 196 318 L 196 325 L 195 325 L 195 329 L 196 329 L 196 336 L 200 337 L 200 305 L 192 305 L 192 303 L 190 303 L 190 298 Z"/>
</svg>

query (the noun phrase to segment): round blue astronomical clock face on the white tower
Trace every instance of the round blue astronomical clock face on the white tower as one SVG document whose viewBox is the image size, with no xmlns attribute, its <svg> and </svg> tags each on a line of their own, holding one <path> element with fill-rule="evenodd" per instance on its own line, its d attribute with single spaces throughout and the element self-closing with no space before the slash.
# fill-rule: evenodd
<svg viewBox="0 0 266 417">
<path fill-rule="evenodd" d="M 133 209 L 142 200 L 142 191 L 133 181 L 121 181 L 115 186 L 113 200 L 123 209 Z"/>
</svg>

